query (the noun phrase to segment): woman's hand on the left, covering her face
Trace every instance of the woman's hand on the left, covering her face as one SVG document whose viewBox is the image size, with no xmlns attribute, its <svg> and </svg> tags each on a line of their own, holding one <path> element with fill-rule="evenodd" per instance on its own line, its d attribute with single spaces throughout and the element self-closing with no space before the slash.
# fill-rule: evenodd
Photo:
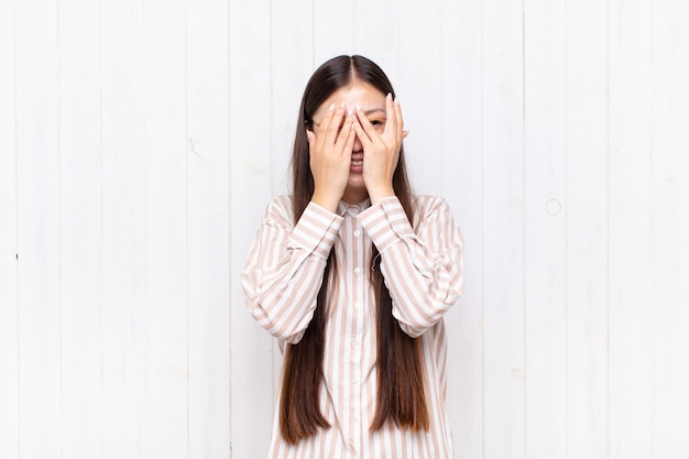
<svg viewBox="0 0 689 459">
<path fill-rule="evenodd" d="M 306 131 L 315 186 L 311 201 L 335 212 L 349 181 L 357 133 L 343 103 L 337 109 L 331 105 L 314 128 Z"/>
</svg>

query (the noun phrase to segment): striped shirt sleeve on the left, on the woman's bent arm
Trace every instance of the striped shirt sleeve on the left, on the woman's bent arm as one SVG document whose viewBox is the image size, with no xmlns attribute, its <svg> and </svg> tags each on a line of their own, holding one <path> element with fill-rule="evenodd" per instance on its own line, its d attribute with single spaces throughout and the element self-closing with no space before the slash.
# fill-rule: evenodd
<svg viewBox="0 0 689 459">
<path fill-rule="evenodd" d="M 244 264 L 242 287 L 254 320 L 296 343 L 314 316 L 342 217 L 310 203 L 294 225 L 289 206 L 284 196 L 269 206 Z"/>
</svg>

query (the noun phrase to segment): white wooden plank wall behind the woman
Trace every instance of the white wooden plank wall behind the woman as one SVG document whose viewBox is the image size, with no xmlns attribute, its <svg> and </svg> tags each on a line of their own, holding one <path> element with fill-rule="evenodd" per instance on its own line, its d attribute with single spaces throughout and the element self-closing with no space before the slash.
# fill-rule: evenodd
<svg viewBox="0 0 689 459">
<path fill-rule="evenodd" d="M 683 0 L 0 0 L 0 459 L 263 458 L 240 272 L 337 54 L 450 203 L 458 458 L 689 457 Z"/>
</svg>

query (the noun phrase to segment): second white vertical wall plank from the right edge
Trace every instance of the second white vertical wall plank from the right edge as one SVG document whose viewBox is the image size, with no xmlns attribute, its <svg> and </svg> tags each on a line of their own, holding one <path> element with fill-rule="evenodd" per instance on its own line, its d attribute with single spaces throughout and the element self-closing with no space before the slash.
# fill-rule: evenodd
<svg viewBox="0 0 689 459">
<path fill-rule="evenodd" d="M 650 1 L 611 0 L 609 21 L 610 459 L 649 458 Z"/>
</svg>

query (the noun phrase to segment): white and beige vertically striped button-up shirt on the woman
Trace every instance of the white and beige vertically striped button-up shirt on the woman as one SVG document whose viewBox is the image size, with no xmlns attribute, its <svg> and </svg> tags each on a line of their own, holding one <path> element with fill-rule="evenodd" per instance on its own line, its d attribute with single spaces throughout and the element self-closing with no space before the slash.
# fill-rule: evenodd
<svg viewBox="0 0 689 459">
<path fill-rule="evenodd" d="M 329 429 L 295 446 L 281 438 L 277 411 L 270 459 L 453 458 L 445 407 L 447 342 L 442 315 L 463 289 L 463 240 L 447 203 L 415 198 L 414 227 L 396 197 L 374 206 L 340 203 L 338 212 L 310 203 L 294 225 L 292 203 L 269 206 L 250 250 L 242 284 L 252 317 L 280 343 L 304 335 L 333 249 L 337 280 L 329 292 L 320 408 Z M 375 299 L 369 271 L 372 243 L 393 298 L 393 316 L 422 337 L 430 429 L 413 433 L 387 423 L 369 427 L 376 403 Z"/>
</svg>

